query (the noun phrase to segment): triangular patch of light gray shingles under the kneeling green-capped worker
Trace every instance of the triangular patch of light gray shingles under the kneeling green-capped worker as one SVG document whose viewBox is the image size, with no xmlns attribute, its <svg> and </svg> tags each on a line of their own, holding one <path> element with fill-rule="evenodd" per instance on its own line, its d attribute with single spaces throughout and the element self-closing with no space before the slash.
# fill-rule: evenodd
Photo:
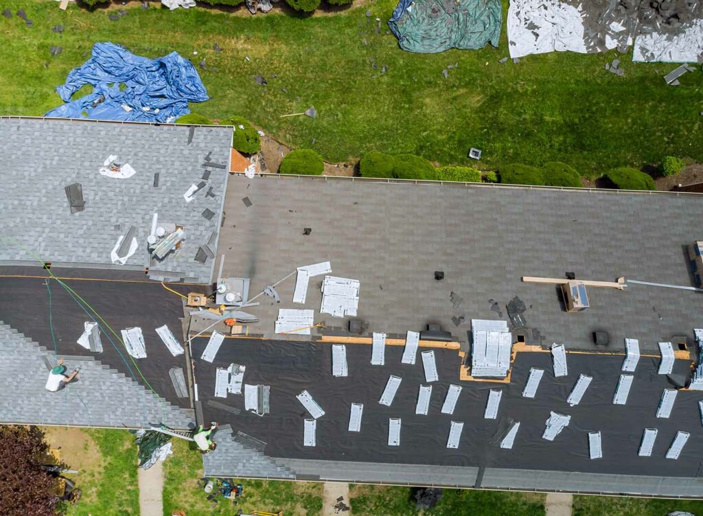
<svg viewBox="0 0 703 516">
<path fill-rule="evenodd" d="M 0 423 L 142 428 L 164 424 L 187 429 L 191 419 L 181 409 L 146 390 L 123 373 L 90 357 L 66 359 L 80 378 L 65 389 L 44 388 L 49 371 L 44 359 L 58 361 L 52 351 L 0 321 Z"/>
</svg>

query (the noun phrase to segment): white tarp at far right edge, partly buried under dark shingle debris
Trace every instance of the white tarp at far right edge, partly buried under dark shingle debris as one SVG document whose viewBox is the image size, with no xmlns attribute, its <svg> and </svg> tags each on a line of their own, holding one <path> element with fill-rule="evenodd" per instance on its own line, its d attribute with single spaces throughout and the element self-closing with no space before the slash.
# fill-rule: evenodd
<svg viewBox="0 0 703 516">
<path fill-rule="evenodd" d="M 694 20 L 678 34 L 640 34 L 635 38 L 633 61 L 696 63 L 703 56 L 703 20 Z"/>
</svg>

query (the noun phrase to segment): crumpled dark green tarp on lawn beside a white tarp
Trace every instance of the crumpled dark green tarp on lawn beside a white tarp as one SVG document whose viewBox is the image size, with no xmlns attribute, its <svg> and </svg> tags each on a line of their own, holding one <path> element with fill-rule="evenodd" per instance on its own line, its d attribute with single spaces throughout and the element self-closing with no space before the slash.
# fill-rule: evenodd
<svg viewBox="0 0 703 516">
<path fill-rule="evenodd" d="M 420 53 L 498 46 L 500 0 L 401 0 L 388 25 L 403 50 Z"/>
</svg>

